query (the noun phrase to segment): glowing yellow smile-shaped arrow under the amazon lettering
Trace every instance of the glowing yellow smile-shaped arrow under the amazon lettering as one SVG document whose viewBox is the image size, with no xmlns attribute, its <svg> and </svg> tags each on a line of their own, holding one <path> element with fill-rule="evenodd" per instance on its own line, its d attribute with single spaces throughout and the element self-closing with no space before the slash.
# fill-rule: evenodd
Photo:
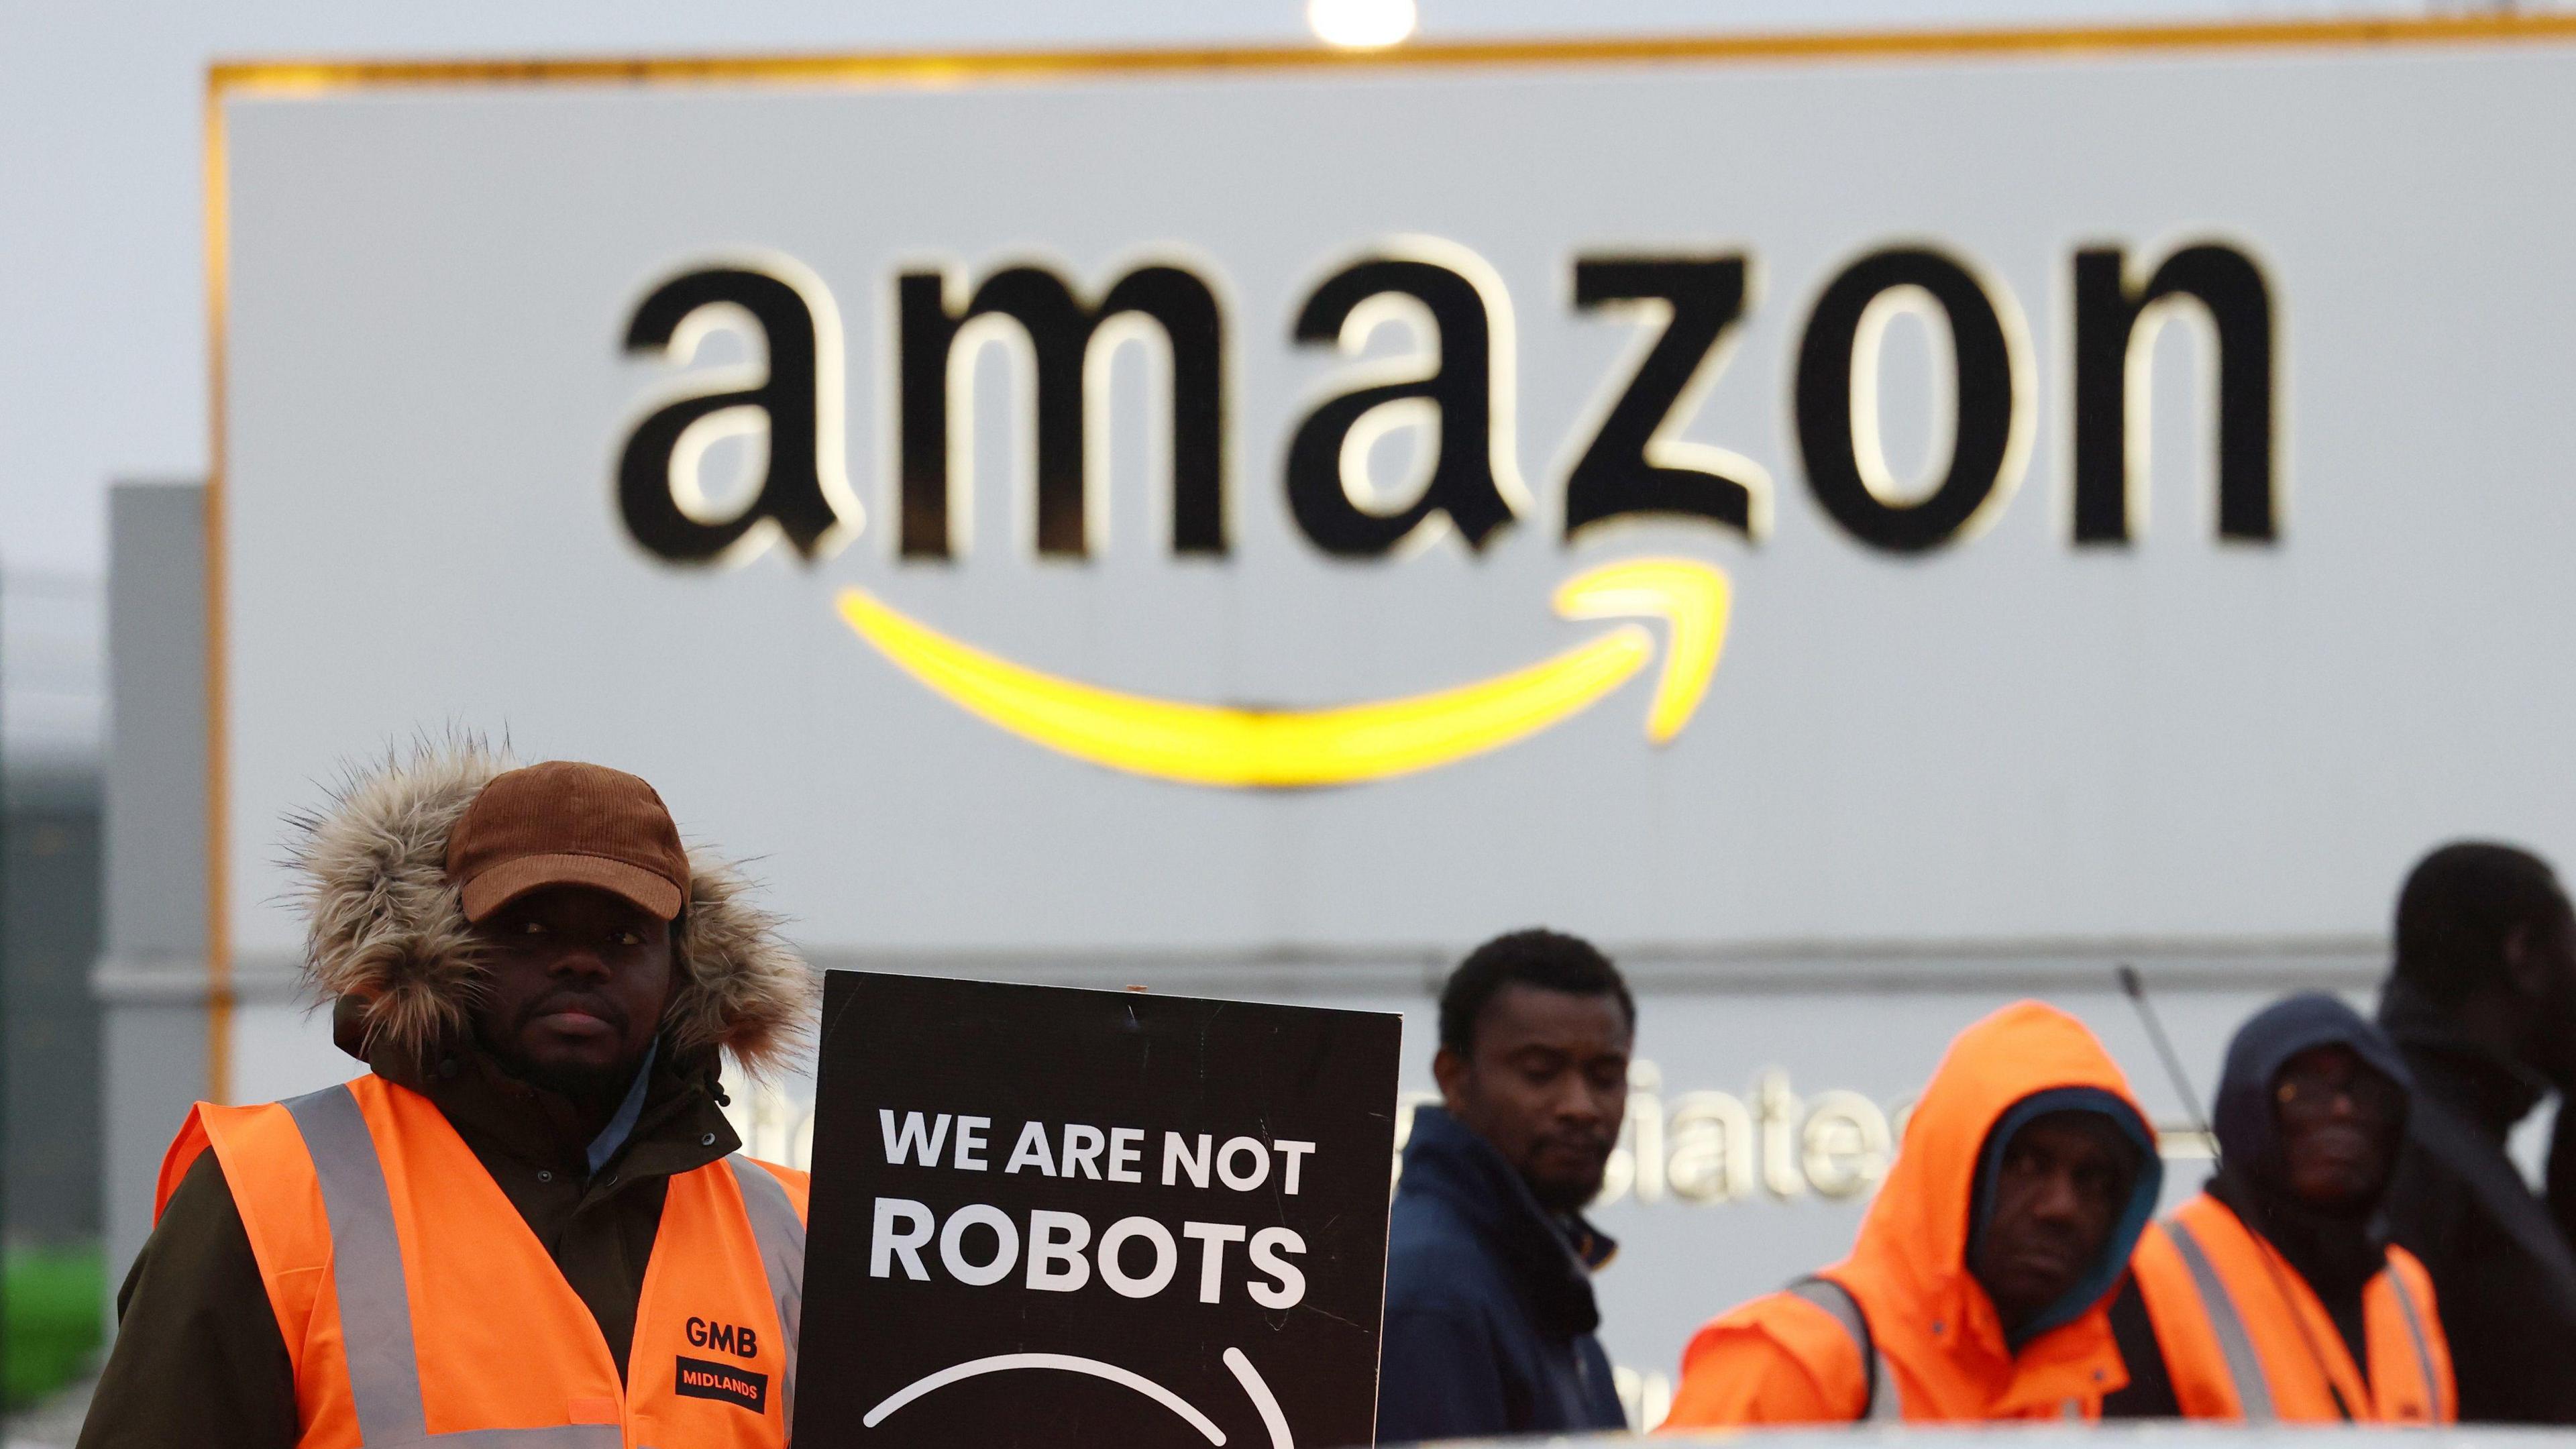
<svg viewBox="0 0 2576 1449">
<path fill-rule="evenodd" d="M 1664 745 L 1708 691 L 1728 601 L 1726 575 L 1710 565 L 1628 559 L 1558 585 L 1556 614 L 1667 624 L 1664 673 L 1646 709 L 1646 737 Z M 1023 740 L 1115 771 L 1231 789 L 1360 784 L 1499 750 L 1582 714 L 1654 657 L 1654 634 L 1625 624 L 1551 660 L 1432 694 L 1229 709 L 1048 676 L 951 639 L 860 588 L 840 593 L 840 616 L 930 691 Z"/>
</svg>

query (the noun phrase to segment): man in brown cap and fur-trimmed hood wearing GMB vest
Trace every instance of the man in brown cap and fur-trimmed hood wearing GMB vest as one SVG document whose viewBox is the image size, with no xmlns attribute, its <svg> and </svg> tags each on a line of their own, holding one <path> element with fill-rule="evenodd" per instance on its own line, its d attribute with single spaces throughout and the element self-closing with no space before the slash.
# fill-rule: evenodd
<svg viewBox="0 0 2576 1449">
<path fill-rule="evenodd" d="M 662 797 L 466 740 L 299 820 L 307 985 L 368 1075 L 198 1104 L 85 1449 L 788 1439 L 806 1178 L 737 1155 L 811 977 Z"/>
</svg>

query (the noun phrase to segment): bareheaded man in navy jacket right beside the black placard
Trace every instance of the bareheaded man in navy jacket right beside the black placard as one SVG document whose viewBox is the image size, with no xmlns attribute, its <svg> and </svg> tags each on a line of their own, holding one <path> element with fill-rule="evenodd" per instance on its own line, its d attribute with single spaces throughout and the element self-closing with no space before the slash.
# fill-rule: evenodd
<svg viewBox="0 0 2576 1449">
<path fill-rule="evenodd" d="M 1414 1114 L 1386 1243 L 1378 1444 L 1625 1428 L 1592 1330 L 1613 1243 L 1579 1209 L 1628 1111 L 1636 1000 L 1556 931 L 1440 990 L 1440 1106 Z"/>
</svg>

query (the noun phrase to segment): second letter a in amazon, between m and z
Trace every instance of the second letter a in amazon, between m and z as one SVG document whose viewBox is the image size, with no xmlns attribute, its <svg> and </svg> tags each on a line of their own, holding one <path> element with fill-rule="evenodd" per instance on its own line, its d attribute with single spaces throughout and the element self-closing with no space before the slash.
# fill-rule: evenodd
<svg viewBox="0 0 2576 1449">
<path fill-rule="evenodd" d="M 1327 276 L 1293 335 L 1355 353 L 1406 315 L 1430 356 L 1368 366 L 1370 387 L 1324 400 L 1288 441 L 1288 511 L 1327 554 L 1394 552 L 1435 516 L 1481 549 L 1525 500 L 1512 462 L 1512 299 L 1484 258 L 1453 242 L 1396 242 Z M 1381 505 L 1368 446 L 1412 423 L 1432 438 L 1430 480 L 1412 503 Z"/>
</svg>

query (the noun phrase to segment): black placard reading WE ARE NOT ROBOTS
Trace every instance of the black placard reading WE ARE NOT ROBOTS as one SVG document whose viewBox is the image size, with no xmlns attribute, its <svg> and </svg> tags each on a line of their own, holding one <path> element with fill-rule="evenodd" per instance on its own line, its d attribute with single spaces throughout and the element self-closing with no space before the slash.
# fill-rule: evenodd
<svg viewBox="0 0 2576 1449">
<path fill-rule="evenodd" d="M 1399 1047 L 1373 1011 L 832 972 L 796 1444 L 1368 1444 Z"/>
</svg>

